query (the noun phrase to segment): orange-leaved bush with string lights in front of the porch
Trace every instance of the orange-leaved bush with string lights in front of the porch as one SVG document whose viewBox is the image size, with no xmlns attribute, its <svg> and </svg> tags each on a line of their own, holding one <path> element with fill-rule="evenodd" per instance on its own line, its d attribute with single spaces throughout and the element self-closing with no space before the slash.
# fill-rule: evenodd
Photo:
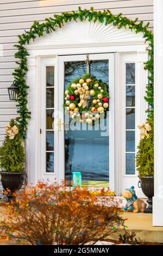
<svg viewBox="0 0 163 256">
<path fill-rule="evenodd" d="M 103 190 L 101 193 L 104 195 Z M 39 182 L 20 201 L 3 204 L 0 238 L 26 245 L 84 245 L 106 240 L 124 223 L 117 206 L 114 197 L 99 198 L 86 188 L 66 191 L 64 185 Z"/>
</svg>

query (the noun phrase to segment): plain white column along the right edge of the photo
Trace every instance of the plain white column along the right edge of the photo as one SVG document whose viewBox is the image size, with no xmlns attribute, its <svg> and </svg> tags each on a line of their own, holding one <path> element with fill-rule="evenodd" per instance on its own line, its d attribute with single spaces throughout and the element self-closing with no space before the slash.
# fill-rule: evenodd
<svg viewBox="0 0 163 256">
<path fill-rule="evenodd" d="M 163 1 L 154 0 L 153 225 L 163 226 Z"/>
</svg>

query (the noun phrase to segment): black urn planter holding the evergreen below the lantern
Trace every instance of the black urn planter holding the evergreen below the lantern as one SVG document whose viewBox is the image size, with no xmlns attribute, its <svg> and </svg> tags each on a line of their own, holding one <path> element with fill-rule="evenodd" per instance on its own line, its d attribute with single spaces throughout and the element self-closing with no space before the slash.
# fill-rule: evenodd
<svg viewBox="0 0 163 256">
<path fill-rule="evenodd" d="M 27 185 L 27 174 L 0 172 L 1 182 L 5 191 L 8 192 L 8 201 L 15 200 L 15 192 L 20 190 L 23 185 Z M 9 190 L 9 191 L 8 191 Z"/>
</svg>

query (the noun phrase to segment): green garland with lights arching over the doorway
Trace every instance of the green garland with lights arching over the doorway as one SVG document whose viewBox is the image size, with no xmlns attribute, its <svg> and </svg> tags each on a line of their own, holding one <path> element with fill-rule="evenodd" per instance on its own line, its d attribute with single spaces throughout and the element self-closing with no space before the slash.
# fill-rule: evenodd
<svg viewBox="0 0 163 256">
<path fill-rule="evenodd" d="M 39 23 L 38 21 L 34 21 L 32 27 L 29 31 L 25 31 L 24 34 L 18 35 L 19 41 L 18 44 L 14 45 L 17 47 L 18 51 L 15 53 L 15 58 L 19 60 L 16 62 L 18 64 L 18 68 L 15 69 L 15 72 L 12 73 L 14 75 L 14 83 L 19 87 L 19 95 L 18 95 L 18 104 L 17 106 L 17 113 L 18 117 L 16 121 L 20 126 L 20 133 L 23 138 L 25 138 L 27 125 L 28 125 L 28 118 L 30 118 L 30 112 L 28 111 L 27 107 L 27 90 L 29 86 L 26 84 L 26 72 L 28 71 L 27 68 L 27 56 L 29 56 L 28 51 L 24 47 L 24 45 L 29 44 L 30 40 L 35 40 L 38 36 L 42 36 L 45 33 L 49 34 L 55 31 L 56 27 L 64 26 L 64 23 L 70 21 L 84 21 L 89 20 L 93 22 L 100 22 L 105 23 L 107 26 L 108 24 L 112 23 L 118 29 L 125 27 L 134 29 L 135 33 L 143 33 L 143 38 L 145 42 L 148 41 L 149 47 L 147 47 L 149 60 L 145 65 L 145 69 L 148 69 L 149 76 L 148 76 L 148 85 L 146 88 L 146 97 L 145 100 L 148 102 L 149 108 L 147 109 L 148 117 L 153 118 L 153 33 L 148 31 L 149 23 L 146 26 L 143 26 L 143 22 L 137 22 L 138 19 L 131 21 L 127 19 L 127 17 L 123 17 L 122 14 L 113 15 L 110 10 L 104 11 L 95 11 L 93 7 L 90 10 L 82 10 L 79 7 L 78 11 L 72 11 L 71 13 L 62 13 L 61 15 L 54 15 L 53 18 L 45 19 L 45 22 Z"/>
</svg>

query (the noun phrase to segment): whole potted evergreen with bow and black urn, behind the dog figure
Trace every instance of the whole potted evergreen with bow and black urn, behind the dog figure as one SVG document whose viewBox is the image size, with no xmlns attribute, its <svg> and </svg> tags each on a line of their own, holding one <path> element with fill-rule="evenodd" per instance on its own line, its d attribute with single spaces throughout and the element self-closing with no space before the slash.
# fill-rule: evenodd
<svg viewBox="0 0 163 256">
<path fill-rule="evenodd" d="M 150 129 L 146 130 L 146 127 Z M 141 140 L 136 155 L 136 167 L 139 172 L 139 184 L 142 192 L 148 197 L 148 208 L 144 213 L 152 213 L 152 197 L 154 196 L 154 134 L 153 119 L 148 119 L 146 126 L 141 131 Z M 139 186 L 138 184 L 138 186 Z"/>
</svg>

